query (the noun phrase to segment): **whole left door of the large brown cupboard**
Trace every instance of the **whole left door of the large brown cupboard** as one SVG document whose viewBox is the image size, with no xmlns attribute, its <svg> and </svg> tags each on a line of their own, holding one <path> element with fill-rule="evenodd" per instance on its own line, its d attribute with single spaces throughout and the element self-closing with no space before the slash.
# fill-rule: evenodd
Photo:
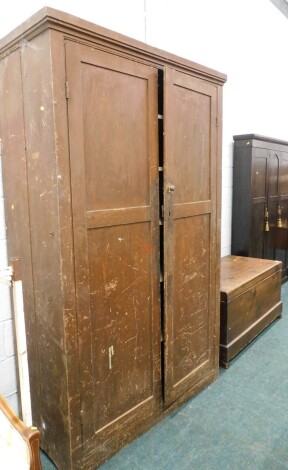
<svg viewBox="0 0 288 470">
<path fill-rule="evenodd" d="M 70 42 L 66 55 L 73 341 L 84 444 L 103 446 L 127 438 L 161 393 L 157 70 Z"/>
</svg>

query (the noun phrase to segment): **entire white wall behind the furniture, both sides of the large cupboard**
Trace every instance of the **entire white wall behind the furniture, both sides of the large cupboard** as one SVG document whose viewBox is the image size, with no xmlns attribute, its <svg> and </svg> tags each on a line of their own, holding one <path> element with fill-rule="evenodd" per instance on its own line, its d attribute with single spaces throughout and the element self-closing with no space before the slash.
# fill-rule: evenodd
<svg viewBox="0 0 288 470">
<path fill-rule="evenodd" d="M 285 50 L 288 20 L 269 0 L 47 2 L 53 8 L 146 41 L 228 75 L 224 86 L 222 255 L 229 254 L 233 135 L 258 133 L 288 140 L 288 60 Z M 9 0 L 2 3 L 0 37 L 44 4 L 42 0 Z M 0 219 L 2 203 L 0 194 Z M 6 262 L 4 238 L 2 223 L 0 266 Z M 7 293 L 0 291 L 0 295 L 0 393 L 7 395 L 9 392 L 12 396 L 15 372 L 10 365 L 14 361 L 11 313 Z M 6 349 L 3 348 L 3 337 L 5 344 L 8 344 Z M 3 375 L 5 367 L 9 370 L 8 375 Z"/>
</svg>

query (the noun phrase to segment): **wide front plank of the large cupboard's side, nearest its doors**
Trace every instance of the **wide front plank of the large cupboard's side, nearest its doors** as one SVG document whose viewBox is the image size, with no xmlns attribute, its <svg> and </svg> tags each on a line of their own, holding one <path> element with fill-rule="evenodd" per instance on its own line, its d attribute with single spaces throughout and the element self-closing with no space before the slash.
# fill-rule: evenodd
<svg viewBox="0 0 288 470">
<path fill-rule="evenodd" d="M 21 50 L 30 243 L 37 318 L 42 446 L 63 467 L 69 462 L 67 367 L 62 314 L 54 97 L 49 31 Z M 30 367 L 34 367 L 31 362 Z M 32 403 L 33 406 L 33 403 Z"/>
</svg>

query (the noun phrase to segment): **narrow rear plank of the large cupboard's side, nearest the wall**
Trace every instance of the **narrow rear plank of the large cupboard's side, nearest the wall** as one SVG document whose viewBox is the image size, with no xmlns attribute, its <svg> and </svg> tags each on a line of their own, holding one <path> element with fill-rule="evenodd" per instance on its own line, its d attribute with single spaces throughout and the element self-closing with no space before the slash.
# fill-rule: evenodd
<svg viewBox="0 0 288 470">
<path fill-rule="evenodd" d="M 30 251 L 29 207 L 25 160 L 23 95 L 20 51 L 16 50 L 0 62 L 0 138 L 7 226 L 8 262 L 20 258 L 28 359 L 31 383 L 39 383 L 37 322 L 33 301 L 33 278 Z M 33 364 L 33 365 L 32 365 Z M 33 421 L 39 422 L 40 395 L 31 387 L 34 403 Z"/>
</svg>

